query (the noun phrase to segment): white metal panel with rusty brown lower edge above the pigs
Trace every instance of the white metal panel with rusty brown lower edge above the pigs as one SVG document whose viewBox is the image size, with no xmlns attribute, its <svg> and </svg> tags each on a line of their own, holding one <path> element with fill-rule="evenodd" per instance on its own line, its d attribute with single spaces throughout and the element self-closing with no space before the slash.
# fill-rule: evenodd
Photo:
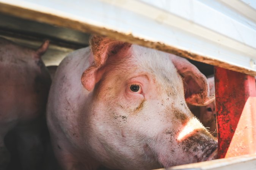
<svg viewBox="0 0 256 170">
<path fill-rule="evenodd" d="M 91 32 L 256 75 L 255 9 L 248 2 L 232 2 L 235 3 L 230 4 L 228 0 L 0 0 L 18 11 L 38 12 L 43 17 L 24 12 L 19 15 L 1 5 L 0 11 L 80 31 L 88 31 L 86 28 L 91 26 Z M 241 4 L 242 10 L 237 9 Z"/>
</svg>

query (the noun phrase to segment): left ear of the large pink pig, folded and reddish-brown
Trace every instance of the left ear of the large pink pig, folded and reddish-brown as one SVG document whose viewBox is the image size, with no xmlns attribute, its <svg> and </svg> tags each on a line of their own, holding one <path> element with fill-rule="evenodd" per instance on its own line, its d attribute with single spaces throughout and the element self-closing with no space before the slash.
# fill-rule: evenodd
<svg viewBox="0 0 256 170">
<path fill-rule="evenodd" d="M 88 91 L 93 90 L 95 84 L 101 79 L 104 72 L 101 68 L 105 65 L 108 57 L 117 54 L 121 49 L 128 50 L 131 44 L 104 36 L 93 35 L 90 39 L 90 46 L 90 60 L 92 62 L 81 77 L 82 85 Z"/>
</svg>

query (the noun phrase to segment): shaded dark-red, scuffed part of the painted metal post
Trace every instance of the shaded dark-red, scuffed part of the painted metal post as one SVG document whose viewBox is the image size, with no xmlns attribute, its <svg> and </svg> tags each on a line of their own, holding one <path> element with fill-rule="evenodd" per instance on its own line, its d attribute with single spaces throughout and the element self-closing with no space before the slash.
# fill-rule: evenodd
<svg viewBox="0 0 256 170">
<path fill-rule="evenodd" d="M 253 76 L 219 67 L 214 67 L 214 77 L 218 158 L 225 158 L 245 103 L 248 97 L 256 96 L 255 79 Z"/>
</svg>

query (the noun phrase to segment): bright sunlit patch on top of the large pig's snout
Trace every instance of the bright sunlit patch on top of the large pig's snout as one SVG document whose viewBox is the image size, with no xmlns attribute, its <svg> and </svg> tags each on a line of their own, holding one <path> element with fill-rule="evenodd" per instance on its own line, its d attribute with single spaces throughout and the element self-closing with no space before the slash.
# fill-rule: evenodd
<svg viewBox="0 0 256 170">
<path fill-rule="evenodd" d="M 202 128 L 205 129 L 204 126 L 198 121 L 198 119 L 196 119 L 196 117 L 193 117 L 192 119 L 190 119 L 187 122 L 185 127 L 181 130 L 177 140 L 181 141 L 185 136 L 187 136 L 188 134 L 190 134 L 194 130 L 202 129 Z"/>
</svg>

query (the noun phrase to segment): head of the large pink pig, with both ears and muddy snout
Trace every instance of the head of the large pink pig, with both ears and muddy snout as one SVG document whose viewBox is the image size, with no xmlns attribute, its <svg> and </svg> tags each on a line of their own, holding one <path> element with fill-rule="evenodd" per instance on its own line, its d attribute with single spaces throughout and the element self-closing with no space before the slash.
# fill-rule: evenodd
<svg viewBox="0 0 256 170">
<path fill-rule="evenodd" d="M 95 159 L 110 168 L 149 169 L 210 157 L 217 142 L 186 105 L 213 100 L 195 66 L 105 37 L 90 43 L 91 66 L 81 80 L 93 95 L 86 138 Z"/>
</svg>

